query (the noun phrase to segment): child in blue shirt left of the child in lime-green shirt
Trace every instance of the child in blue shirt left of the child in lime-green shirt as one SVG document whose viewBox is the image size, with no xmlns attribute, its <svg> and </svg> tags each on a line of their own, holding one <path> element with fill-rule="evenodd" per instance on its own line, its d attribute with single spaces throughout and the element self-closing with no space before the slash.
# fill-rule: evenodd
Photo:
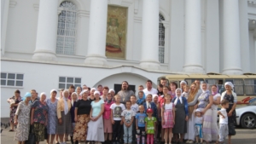
<svg viewBox="0 0 256 144">
<path fill-rule="evenodd" d="M 136 130 L 137 130 L 137 144 L 145 144 L 145 118 L 147 117 L 147 114 L 144 113 L 144 107 L 143 105 L 139 106 L 139 113 L 136 114 Z M 141 141 L 142 137 L 142 142 Z"/>
</svg>

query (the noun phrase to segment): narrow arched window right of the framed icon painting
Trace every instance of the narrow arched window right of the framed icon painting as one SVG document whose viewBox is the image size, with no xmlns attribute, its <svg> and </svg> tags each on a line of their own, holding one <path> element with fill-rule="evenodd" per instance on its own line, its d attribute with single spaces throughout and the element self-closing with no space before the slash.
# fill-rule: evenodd
<svg viewBox="0 0 256 144">
<path fill-rule="evenodd" d="M 159 14 L 159 52 L 158 57 L 160 63 L 165 62 L 165 26 L 163 24 L 163 20 L 165 20 L 162 14 Z"/>
</svg>

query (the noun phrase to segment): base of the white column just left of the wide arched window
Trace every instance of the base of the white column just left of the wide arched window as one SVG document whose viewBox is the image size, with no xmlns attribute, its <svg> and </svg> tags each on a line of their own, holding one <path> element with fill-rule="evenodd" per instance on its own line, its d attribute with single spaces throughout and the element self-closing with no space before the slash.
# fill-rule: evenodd
<svg viewBox="0 0 256 144">
<path fill-rule="evenodd" d="M 47 50 L 37 50 L 34 52 L 32 56 L 32 60 L 47 60 L 47 61 L 55 61 L 56 55 L 52 51 Z"/>
</svg>

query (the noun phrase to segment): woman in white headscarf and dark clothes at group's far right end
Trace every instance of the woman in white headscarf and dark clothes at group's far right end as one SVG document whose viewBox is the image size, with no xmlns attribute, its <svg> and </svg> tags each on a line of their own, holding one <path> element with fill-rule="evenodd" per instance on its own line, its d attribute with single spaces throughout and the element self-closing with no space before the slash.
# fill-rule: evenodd
<svg viewBox="0 0 256 144">
<path fill-rule="evenodd" d="M 226 91 L 224 91 L 221 95 L 220 101 L 227 100 L 230 101 L 230 107 L 227 108 L 228 118 L 229 118 L 229 125 L 234 126 L 236 124 L 236 102 L 237 96 L 236 93 L 233 91 L 234 85 L 231 82 L 226 82 L 224 84 Z M 229 129 L 231 127 L 229 126 Z M 231 131 L 231 130 L 229 130 Z M 232 130 L 233 131 L 233 130 Z M 231 144 L 231 134 L 229 134 L 229 144 Z"/>
</svg>

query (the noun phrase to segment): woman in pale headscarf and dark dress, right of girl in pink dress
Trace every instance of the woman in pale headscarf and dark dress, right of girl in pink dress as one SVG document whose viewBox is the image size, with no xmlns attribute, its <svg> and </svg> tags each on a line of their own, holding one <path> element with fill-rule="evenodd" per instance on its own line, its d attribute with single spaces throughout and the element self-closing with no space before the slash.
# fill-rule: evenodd
<svg viewBox="0 0 256 144">
<path fill-rule="evenodd" d="M 174 140 L 180 134 L 179 142 L 183 142 L 184 134 L 187 133 L 187 121 L 189 120 L 188 101 L 182 95 L 182 89 L 176 89 L 176 97 L 172 100 L 175 106 L 175 124 L 172 129 Z"/>
</svg>

